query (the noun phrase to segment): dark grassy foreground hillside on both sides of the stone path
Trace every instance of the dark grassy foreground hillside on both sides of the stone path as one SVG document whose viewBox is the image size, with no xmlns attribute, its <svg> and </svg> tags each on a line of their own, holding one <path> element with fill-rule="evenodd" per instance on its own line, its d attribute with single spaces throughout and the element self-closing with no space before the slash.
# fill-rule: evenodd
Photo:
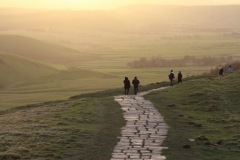
<svg viewBox="0 0 240 160">
<path fill-rule="evenodd" d="M 238 72 L 191 77 L 146 96 L 170 127 L 169 150 L 163 152 L 167 159 L 239 159 L 239 77 Z M 0 111 L 0 159 L 110 159 L 124 125 L 113 96 L 122 92 L 119 88 Z"/>
</svg>

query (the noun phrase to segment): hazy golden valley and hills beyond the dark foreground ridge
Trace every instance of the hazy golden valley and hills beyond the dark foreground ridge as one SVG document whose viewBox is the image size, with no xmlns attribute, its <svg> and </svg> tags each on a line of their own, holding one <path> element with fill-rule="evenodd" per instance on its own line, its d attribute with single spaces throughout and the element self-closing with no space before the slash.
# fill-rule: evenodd
<svg viewBox="0 0 240 160">
<path fill-rule="evenodd" d="M 141 58 L 181 59 L 240 53 L 240 6 L 133 5 L 116 10 L 0 8 L 1 107 L 65 99 L 199 75 L 222 64 L 131 69 Z M 231 63 L 231 62 L 226 62 Z M 6 98 L 7 97 L 7 98 Z"/>
</svg>

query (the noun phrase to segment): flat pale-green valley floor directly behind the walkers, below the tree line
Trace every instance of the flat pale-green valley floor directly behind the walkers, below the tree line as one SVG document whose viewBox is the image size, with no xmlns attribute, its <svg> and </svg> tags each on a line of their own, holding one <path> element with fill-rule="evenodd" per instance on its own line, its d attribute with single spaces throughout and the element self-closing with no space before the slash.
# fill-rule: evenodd
<svg viewBox="0 0 240 160">
<path fill-rule="evenodd" d="M 179 68 L 173 68 L 177 71 Z M 181 68 L 184 77 L 198 75 L 207 68 Z M 80 93 L 123 87 L 125 76 L 138 76 L 141 85 L 168 79 L 169 68 L 149 69 L 69 69 L 38 80 L 25 81 L 0 90 L 0 110 L 19 105 L 62 100 Z"/>
</svg>

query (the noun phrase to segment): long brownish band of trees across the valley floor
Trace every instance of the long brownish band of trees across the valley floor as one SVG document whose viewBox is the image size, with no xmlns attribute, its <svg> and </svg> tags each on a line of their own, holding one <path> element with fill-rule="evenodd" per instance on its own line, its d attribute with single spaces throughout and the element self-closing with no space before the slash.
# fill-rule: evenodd
<svg viewBox="0 0 240 160">
<path fill-rule="evenodd" d="M 233 61 L 232 56 L 184 56 L 176 59 L 165 59 L 162 57 L 142 57 L 138 60 L 127 63 L 129 68 L 148 68 L 148 67 L 190 67 L 190 66 L 216 66 L 216 64 L 225 64 Z"/>
</svg>

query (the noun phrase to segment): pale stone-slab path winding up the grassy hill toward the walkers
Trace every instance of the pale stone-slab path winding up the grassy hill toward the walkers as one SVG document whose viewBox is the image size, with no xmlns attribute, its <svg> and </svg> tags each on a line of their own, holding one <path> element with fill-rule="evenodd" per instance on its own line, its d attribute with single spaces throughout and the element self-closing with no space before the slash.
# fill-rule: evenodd
<svg viewBox="0 0 240 160">
<path fill-rule="evenodd" d="M 164 88 L 160 88 L 161 90 Z M 153 91 L 153 90 L 151 90 Z M 122 128 L 122 136 L 115 146 L 111 160 L 165 160 L 161 155 L 162 143 L 166 138 L 168 126 L 154 105 L 138 95 L 117 96 L 127 121 Z"/>
</svg>

